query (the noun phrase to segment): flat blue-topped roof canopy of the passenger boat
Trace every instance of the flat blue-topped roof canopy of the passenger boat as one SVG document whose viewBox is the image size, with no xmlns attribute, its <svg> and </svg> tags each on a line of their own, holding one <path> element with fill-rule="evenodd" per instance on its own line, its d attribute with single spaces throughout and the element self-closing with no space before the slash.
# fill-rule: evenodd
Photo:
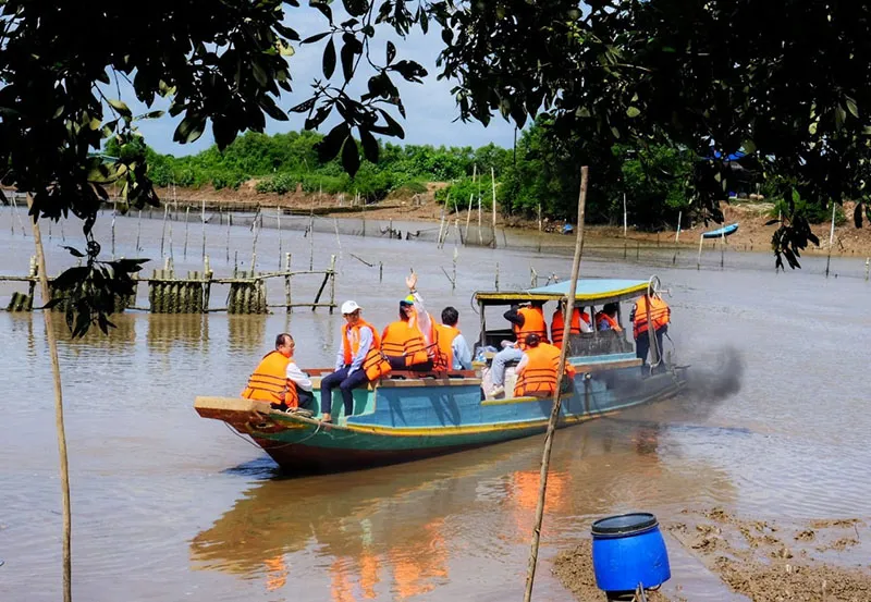
<svg viewBox="0 0 871 602">
<path fill-rule="evenodd" d="M 478 292 L 475 299 L 480 305 L 511 305 L 531 300 L 560 300 L 568 295 L 568 281 L 526 291 Z M 586 304 L 604 304 L 629 300 L 647 292 L 647 280 L 589 279 L 579 280 L 575 300 Z"/>
</svg>

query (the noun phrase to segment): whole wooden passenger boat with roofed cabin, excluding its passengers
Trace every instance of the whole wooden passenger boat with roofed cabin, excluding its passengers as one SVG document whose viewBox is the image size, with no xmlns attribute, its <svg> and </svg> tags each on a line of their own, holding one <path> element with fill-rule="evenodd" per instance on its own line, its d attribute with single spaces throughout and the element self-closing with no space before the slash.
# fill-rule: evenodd
<svg viewBox="0 0 871 602">
<path fill-rule="evenodd" d="M 648 287 L 648 281 L 586 280 L 578 282 L 575 298 L 594 315 L 596 306 L 631 302 L 647 294 Z M 567 282 L 522 292 L 476 293 L 481 324 L 476 348 L 513 339 L 508 328 L 488 328 L 488 308 L 504 309 L 531 300 L 559 302 L 567 294 Z M 501 317 L 500 320 L 507 325 Z M 642 367 L 625 332 L 572 335 L 569 352 L 576 374 L 571 392 L 563 394 L 561 428 L 666 398 L 684 384 L 683 368 L 667 361 L 658 373 Z M 309 370 L 309 373 L 328 371 Z M 320 378 L 315 376 L 312 381 L 318 406 Z M 354 392 L 352 416 L 344 416 L 336 389 L 332 400 L 335 423 L 330 425 L 318 419 L 320 407 L 315 407 L 310 417 L 237 397 L 197 397 L 194 407 L 204 418 L 223 420 L 249 435 L 283 469 L 292 472 L 408 462 L 544 432 L 552 398 L 483 398 L 481 383 L 481 369 L 394 372 Z"/>
</svg>

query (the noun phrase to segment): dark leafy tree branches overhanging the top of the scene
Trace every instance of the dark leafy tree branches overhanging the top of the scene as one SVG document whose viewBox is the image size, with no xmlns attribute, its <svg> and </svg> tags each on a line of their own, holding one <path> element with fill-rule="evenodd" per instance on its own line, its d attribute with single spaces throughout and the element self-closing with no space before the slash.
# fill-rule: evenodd
<svg viewBox="0 0 871 602">
<path fill-rule="evenodd" d="M 420 28 L 441 38 L 439 76 L 456 83 L 461 119 L 523 126 L 547 112 L 553 136 L 590 152 L 665 143 L 711 158 L 691 189 L 714 219 L 732 170 L 713 157 L 739 149 L 748 169 L 778 174 L 787 199 L 863 201 L 869 25 L 869 2 L 829 0 L 0 0 L 2 183 L 34 194 L 35 217 L 82 218 L 87 236 L 106 184 L 132 205 L 157 202 L 145 145 L 131 145 L 136 119 L 155 115 L 134 115 L 119 79 L 147 106 L 171 100 L 181 143 L 210 123 L 223 148 L 287 110 L 307 128 L 338 121 L 319 153 L 354 174 L 354 137 L 375 160 L 375 135 L 404 135 L 396 84 L 426 71 L 401 40 Z M 321 48 L 323 77 L 300 89 L 292 54 L 303 44 Z M 121 156 L 95 157 L 109 136 Z M 786 218 L 773 246 L 796 267 L 814 238 L 800 214 Z"/>
</svg>

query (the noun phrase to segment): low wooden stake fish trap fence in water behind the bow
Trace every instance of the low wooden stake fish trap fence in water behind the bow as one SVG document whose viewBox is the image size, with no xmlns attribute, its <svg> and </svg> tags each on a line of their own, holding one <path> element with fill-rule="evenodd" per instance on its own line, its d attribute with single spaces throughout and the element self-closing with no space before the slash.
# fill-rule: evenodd
<svg viewBox="0 0 871 602">
<path fill-rule="evenodd" d="M 254 263 L 254 261 L 252 261 Z M 293 298 L 293 278 L 304 275 L 322 277 L 320 287 L 315 299 L 310 303 L 294 300 Z M 267 281 L 269 279 L 283 279 L 284 281 L 284 303 L 269 304 L 267 298 Z M 36 259 L 32 258 L 30 269 L 27 275 L 0 275 L 1 281 L 26 282 L 27 293 L 13 292 L 7 306 L 8 311 L 33 311 L 34 292 L 38 280 Z M 62 296 L 63 292 L 56 288 L 52 283 L 53 277 L 49 279 L 49 290 L 51 298 Z M 291 270 L 291 254 L 285 256 L 285 269 L 278 272 L 258 272 L 255 270 L 234 269 L 230 278 L 216 278 L 209 268 L 209 259 L 206 257 L 203 271 L 188 271 L 185 277 L 175 273 L 172 261 L 167 259 L 163 269 L 152 270 L 150 278 L 137 278 L 138 282 L 144 282 L 148 287 L 148 306 L 136 307 L 136 294 L 130 297 L 118 296 L 115 298 L 115 312 L 126 309 L 137 309 L 150 311 L 152 314 L 208 314 L 226 311 L 237 315 L 265 315 L 271 308 L 284 308 L 287 312 L 297 307 L 309 307 L 315 311 L 319 307 L 326 307 L 330 314 L 335 309 L 335 256 L 330 257 L 330 266 L 324 270 Z M 225 285 L 229 287 L 225 307 L 210 307 L 212 287 Z M 321 300 L 328 291 L 328 299 Z M 37 307 L 37 309 L 39 309 Z M 52 310 L 65 311 L 66 302 L 61 300 L 52 307 Z"/>
</svg>

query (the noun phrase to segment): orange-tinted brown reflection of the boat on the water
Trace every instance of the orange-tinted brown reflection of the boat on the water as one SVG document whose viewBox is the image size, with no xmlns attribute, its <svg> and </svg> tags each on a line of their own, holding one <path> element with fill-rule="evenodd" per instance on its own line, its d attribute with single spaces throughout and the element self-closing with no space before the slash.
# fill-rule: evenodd
<svg viewBox="0 0 871 602">
<path fill-rule="evenodd" d="M 711 467 L 664 467 L 661 435 L 660 427 L 605 421 L 561 431 L 544 540 L 576 535 L 579 521 L 626 505 L 689 501 L 710 490 L 701 481 L 716 483 L 720 500 L 734 496 L 725 476 L 712 479 Z M 191 557 L 195 568 L 259 579 L 267 591 L 284 588 L 294 570 L 315 563 L 316 573 L 329 576 L 335 602 L 388 591 L 390 599 L 406 600 L 468 578 L 468 569 L 451 561 L 466 557 L 470 548 L 499 563 L 525 549 L 538 503 L 539 460 L 537 439 L 398 467 L 269 480 L 197 535 Z M 321 591 L 312 599 L 324 597 Z"/>
</svg>

